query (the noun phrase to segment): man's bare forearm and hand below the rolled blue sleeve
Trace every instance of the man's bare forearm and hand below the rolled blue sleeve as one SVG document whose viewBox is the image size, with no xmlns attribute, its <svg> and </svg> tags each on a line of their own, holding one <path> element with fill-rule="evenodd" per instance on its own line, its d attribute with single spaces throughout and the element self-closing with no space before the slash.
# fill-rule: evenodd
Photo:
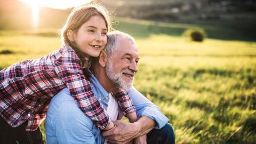
<svg viewBox="0 0 256 144">
<path fill-rule="evenodd" d="M 110 143 L 129 142 L 134 138 L 147 134 L 156 126 L 156 122 L 147 116 L 140 117 L 134 123 L 125 123 L 122 121 L 113 121 L 113 123 L 116 125 L 115 129 L 102 132 L 103 137 Z"/>
</svg>

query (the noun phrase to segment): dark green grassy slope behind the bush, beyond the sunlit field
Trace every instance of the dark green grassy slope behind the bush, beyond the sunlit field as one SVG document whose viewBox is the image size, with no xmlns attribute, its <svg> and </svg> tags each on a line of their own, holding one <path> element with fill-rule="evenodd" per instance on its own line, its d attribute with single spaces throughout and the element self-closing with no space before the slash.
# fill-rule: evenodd
<svg viewBox="0 0 256 144">
<path fill-rule="evenodd" d="M 182 15 L 183 17 L 183 15 Z M 187 15 L 191 17 L 191 15 Z M 187 29 L 202 28 L 208 38 L 221 39 L 228 41 L 247 41 L 255 42 L 256 35 L 255 21 L 200 21 L 197 20 L 193 24 L 156 22 L 135 20 L 129 18 L 116 18 L 119 22 L 115 23 L 116 28 L 133 34 L 135 37 L 148 38 L 150 35 L 170 35 L 181 36 Z M 119 24 L 119 25 L 118 25 Z M 115 26 L 115 25 L 114 25 Z"/>
</svg>

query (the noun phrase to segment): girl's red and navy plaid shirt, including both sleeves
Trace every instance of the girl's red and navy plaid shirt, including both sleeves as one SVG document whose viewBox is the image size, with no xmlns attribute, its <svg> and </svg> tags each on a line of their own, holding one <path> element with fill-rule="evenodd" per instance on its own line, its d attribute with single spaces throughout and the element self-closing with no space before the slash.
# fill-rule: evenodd
<svg viewBox="0 0 256 144">
<path fill-rule="evenodd" d="M 0 114 L 12 127 L 28 121 L 26 131 L 43 122 L 51 98 L 67 87 L 77 106 L 99 129 L 110 121 L 82 71 L 81 60 L 68 45 L 40 59 L 26 60 L 0 71 Z M 130 95 L 114 92 L 125 113 L 135 111 Z M 122 94 L 122 95 L 118 95 Z"/>
</svg>

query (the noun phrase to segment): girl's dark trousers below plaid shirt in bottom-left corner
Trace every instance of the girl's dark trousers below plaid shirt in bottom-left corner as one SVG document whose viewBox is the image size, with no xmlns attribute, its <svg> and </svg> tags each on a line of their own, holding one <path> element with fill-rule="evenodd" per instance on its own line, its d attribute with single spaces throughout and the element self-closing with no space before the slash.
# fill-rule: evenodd
<svg viewBox="0 0 256 144">
<path fill-rule="evenodd" d="M 27 132 L 27 121 L 18 127 L 12 127 L 0 116 L 0 143 L 17 143 L 19 144 L 43 144 L 43 136 L 39 129 Z"/>
</svg>

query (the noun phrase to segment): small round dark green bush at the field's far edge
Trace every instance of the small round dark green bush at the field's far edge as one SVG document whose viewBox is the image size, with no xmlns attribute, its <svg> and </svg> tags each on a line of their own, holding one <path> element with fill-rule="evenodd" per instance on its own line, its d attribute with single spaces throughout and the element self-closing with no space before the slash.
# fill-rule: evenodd
<svg viewBox="0 0 256 144">
<path fill-rule="evenodd" d="M 204 38 L 206 37 L 206 34 L 203 29 L 197 28 L 197 29 L 187 29 L 183 35 L 190 38 L 191 41 L 196 42 L 203 42 Z"/>
</svg>

